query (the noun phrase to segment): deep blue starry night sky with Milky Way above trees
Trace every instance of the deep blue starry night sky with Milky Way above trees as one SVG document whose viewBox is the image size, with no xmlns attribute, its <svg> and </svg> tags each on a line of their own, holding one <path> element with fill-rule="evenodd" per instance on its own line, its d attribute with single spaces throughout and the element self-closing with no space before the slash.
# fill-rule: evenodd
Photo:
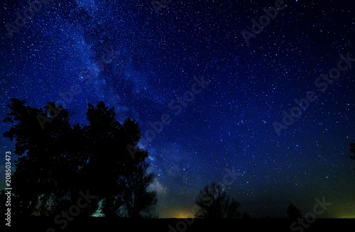
<svg viewBox="0 0 355 232">
<path fill-rule="evenodd" d="M 286 217 L 290 203 L 306 214 L 324 197 L 320 217 L 354 218 L 354 3 L 285 0 L 266 17 L 280 2 L 164 2 L 1 1 L 1 118 L 18 97 L 82 124 L 101 100 L 136 119 L 163 218 L 193 216 L 211 182 L 252 217 Z"/>
</svg>

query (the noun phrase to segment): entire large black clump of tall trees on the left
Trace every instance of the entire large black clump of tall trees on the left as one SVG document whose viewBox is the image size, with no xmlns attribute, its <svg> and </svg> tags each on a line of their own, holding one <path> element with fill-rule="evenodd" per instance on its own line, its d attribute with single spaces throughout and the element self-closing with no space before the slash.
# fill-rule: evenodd
<svg viewBox="0 0 355 232">
<path fill-rule="evenodd" d="M 70 123 L 67 110 L 62 109 L 43 129 L 37 116 L 49 116 L 49 105 L 44 110 L 33 109 L 25 105 L 26 101 L 11 101 L 4 122 L 12 127 L 4 136 L 16 140 L 15 153 L 19 156 L 11 182 L 14 215 L 55 214 L 68 209 L 80 197 L 79 192 L 87 189 L 96 198 L 82 215 L 101 209 L 105 216 L 133 216 L 124 204 L 129 193 L 140 200 L 134 216 L 153 209 L 155 193 L 147 190 L 154 179 L 146 172 L 148 153 L 137 148 L 132 160 L 126 148 L 127 144 L 136 146 L 140 139 L 136 121 L 126 118 L 119 123 L 114 108 L 100 101 L 96 107 L 88 105 L 88 126 Z M 48 104 L 55 109 L 55 104 Z M 127 184 L 133 176 L 140 177 L 139 191 Z"/>
</svg>

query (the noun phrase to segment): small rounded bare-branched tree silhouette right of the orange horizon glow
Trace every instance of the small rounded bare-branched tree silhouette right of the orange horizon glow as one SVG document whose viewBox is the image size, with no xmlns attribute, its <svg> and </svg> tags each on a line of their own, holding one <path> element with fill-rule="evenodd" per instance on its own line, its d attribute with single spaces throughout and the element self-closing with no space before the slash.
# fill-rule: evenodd
<svg viewBox="0 0 355 232">
<path fill-rule="evenodd" d="M 220 184 L 212 184 L 204 187 L 195 201 L 199 209 L 195 213 L 198 218 L 224 219 L 239 216 L 239 202 L 229 199 Z"/>
</svg>

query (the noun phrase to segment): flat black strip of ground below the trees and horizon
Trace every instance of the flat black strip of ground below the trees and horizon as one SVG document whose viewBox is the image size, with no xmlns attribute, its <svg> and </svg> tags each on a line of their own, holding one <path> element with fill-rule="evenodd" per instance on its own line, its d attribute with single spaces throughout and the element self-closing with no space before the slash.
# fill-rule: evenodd
<svg viewBox="0 0 355 232">
<path fill-rule="evenodd" d="M 189 219 L 190 221 L 191 219 Z M 354 231 L 355 219 L 317 219 L 303 231 Z M 171 225 L 171 226 L 169 226 Z M 176 226 L 180 226 L 177 228 Z M 189 225 L 184 219 L 104 219 L 75 218 L 60 229 L 50 218 L 13 218 L 11 231 L 291 231 L 288 219 L 195 219 Z M 62 226 L 62 224 L 60 225 Z M 171 228 L 175 228 L 175 230 Z M 294 231 L 301 231 L 300 229 Z M 49 231 L 48 231 L 49 232 Z"/>
</svg>

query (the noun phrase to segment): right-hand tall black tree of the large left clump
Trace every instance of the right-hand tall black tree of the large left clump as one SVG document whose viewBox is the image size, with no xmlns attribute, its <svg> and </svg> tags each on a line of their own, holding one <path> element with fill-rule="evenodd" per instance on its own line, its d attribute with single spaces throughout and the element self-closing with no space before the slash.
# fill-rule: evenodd
<svg viewBox="0 0 355 232">
<path fill-rule="evenodd" d="M 86 165 L 86 175 L 93 183 L 94 193 L 103 199 L 105 216 L 137 217 L 152 205 L 153 193 L 146 192 L 146 188 L 153 182 L 153 175 L 146 172 L 148 153 L 145 150 L 136 148 L 133 160 L 127 150 L 128 144 L 136 146 L 141 138 L 138 124 L 130 118 L 121 124 L 115 116 L 114 108 L 109 109 L 102 101 L 96 107 L 89 104 L 87 118 L 90 124 L 85 131 L 90 141 L 90 161 Z M 98 169 L 100 175 L 97 175 Z M 134 184 L 130 185 L 132 179 Z M 128 199 L 132 200 L 130 207 Z M 125 213 L 127 211 L 129 213 Z"/>
</svg>

